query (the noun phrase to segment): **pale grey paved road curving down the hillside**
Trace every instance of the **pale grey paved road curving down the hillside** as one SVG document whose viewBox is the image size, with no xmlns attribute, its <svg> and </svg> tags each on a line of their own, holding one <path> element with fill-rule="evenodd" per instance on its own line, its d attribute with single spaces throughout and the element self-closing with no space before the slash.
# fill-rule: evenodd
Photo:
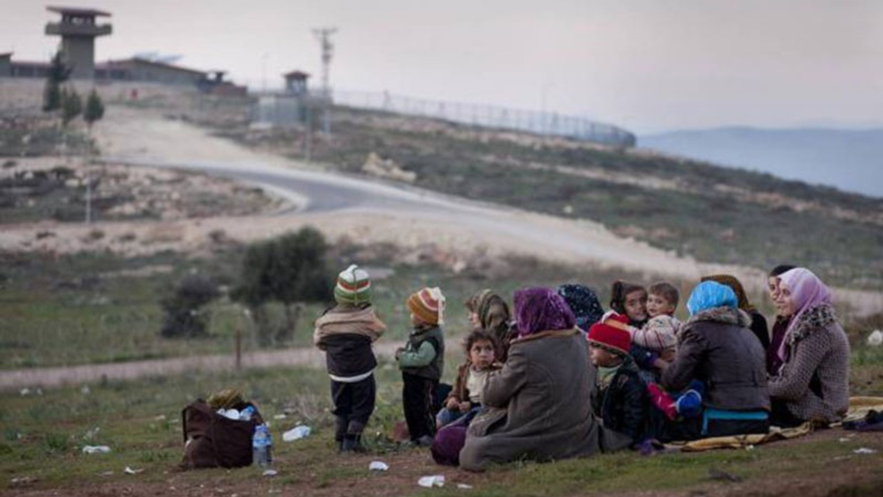
<svg viewBox="0 0 883 497">
<path fill-rule="evenodd" d="M 504 240 L 524 255 L 571 264 L 605 264 L 698 277 L 699 265 L 644 243 L 623 240 L 598 223 L 555 218 L 506 206 L 479 203 L 417 187 L 336 172 L 283 168 L 266 162 L 175 162 L 162 158 L 110 156 L 109 163 L 197 170 L 251 182 L 291 200 L 292 210 L 379 213 Z M 287 210 L 284 213 L 290 213 Z M 419 221 L 415 221 L 419 220 Z M 453 227 L 451 227 L 453 226 Z"/>
</svg>

